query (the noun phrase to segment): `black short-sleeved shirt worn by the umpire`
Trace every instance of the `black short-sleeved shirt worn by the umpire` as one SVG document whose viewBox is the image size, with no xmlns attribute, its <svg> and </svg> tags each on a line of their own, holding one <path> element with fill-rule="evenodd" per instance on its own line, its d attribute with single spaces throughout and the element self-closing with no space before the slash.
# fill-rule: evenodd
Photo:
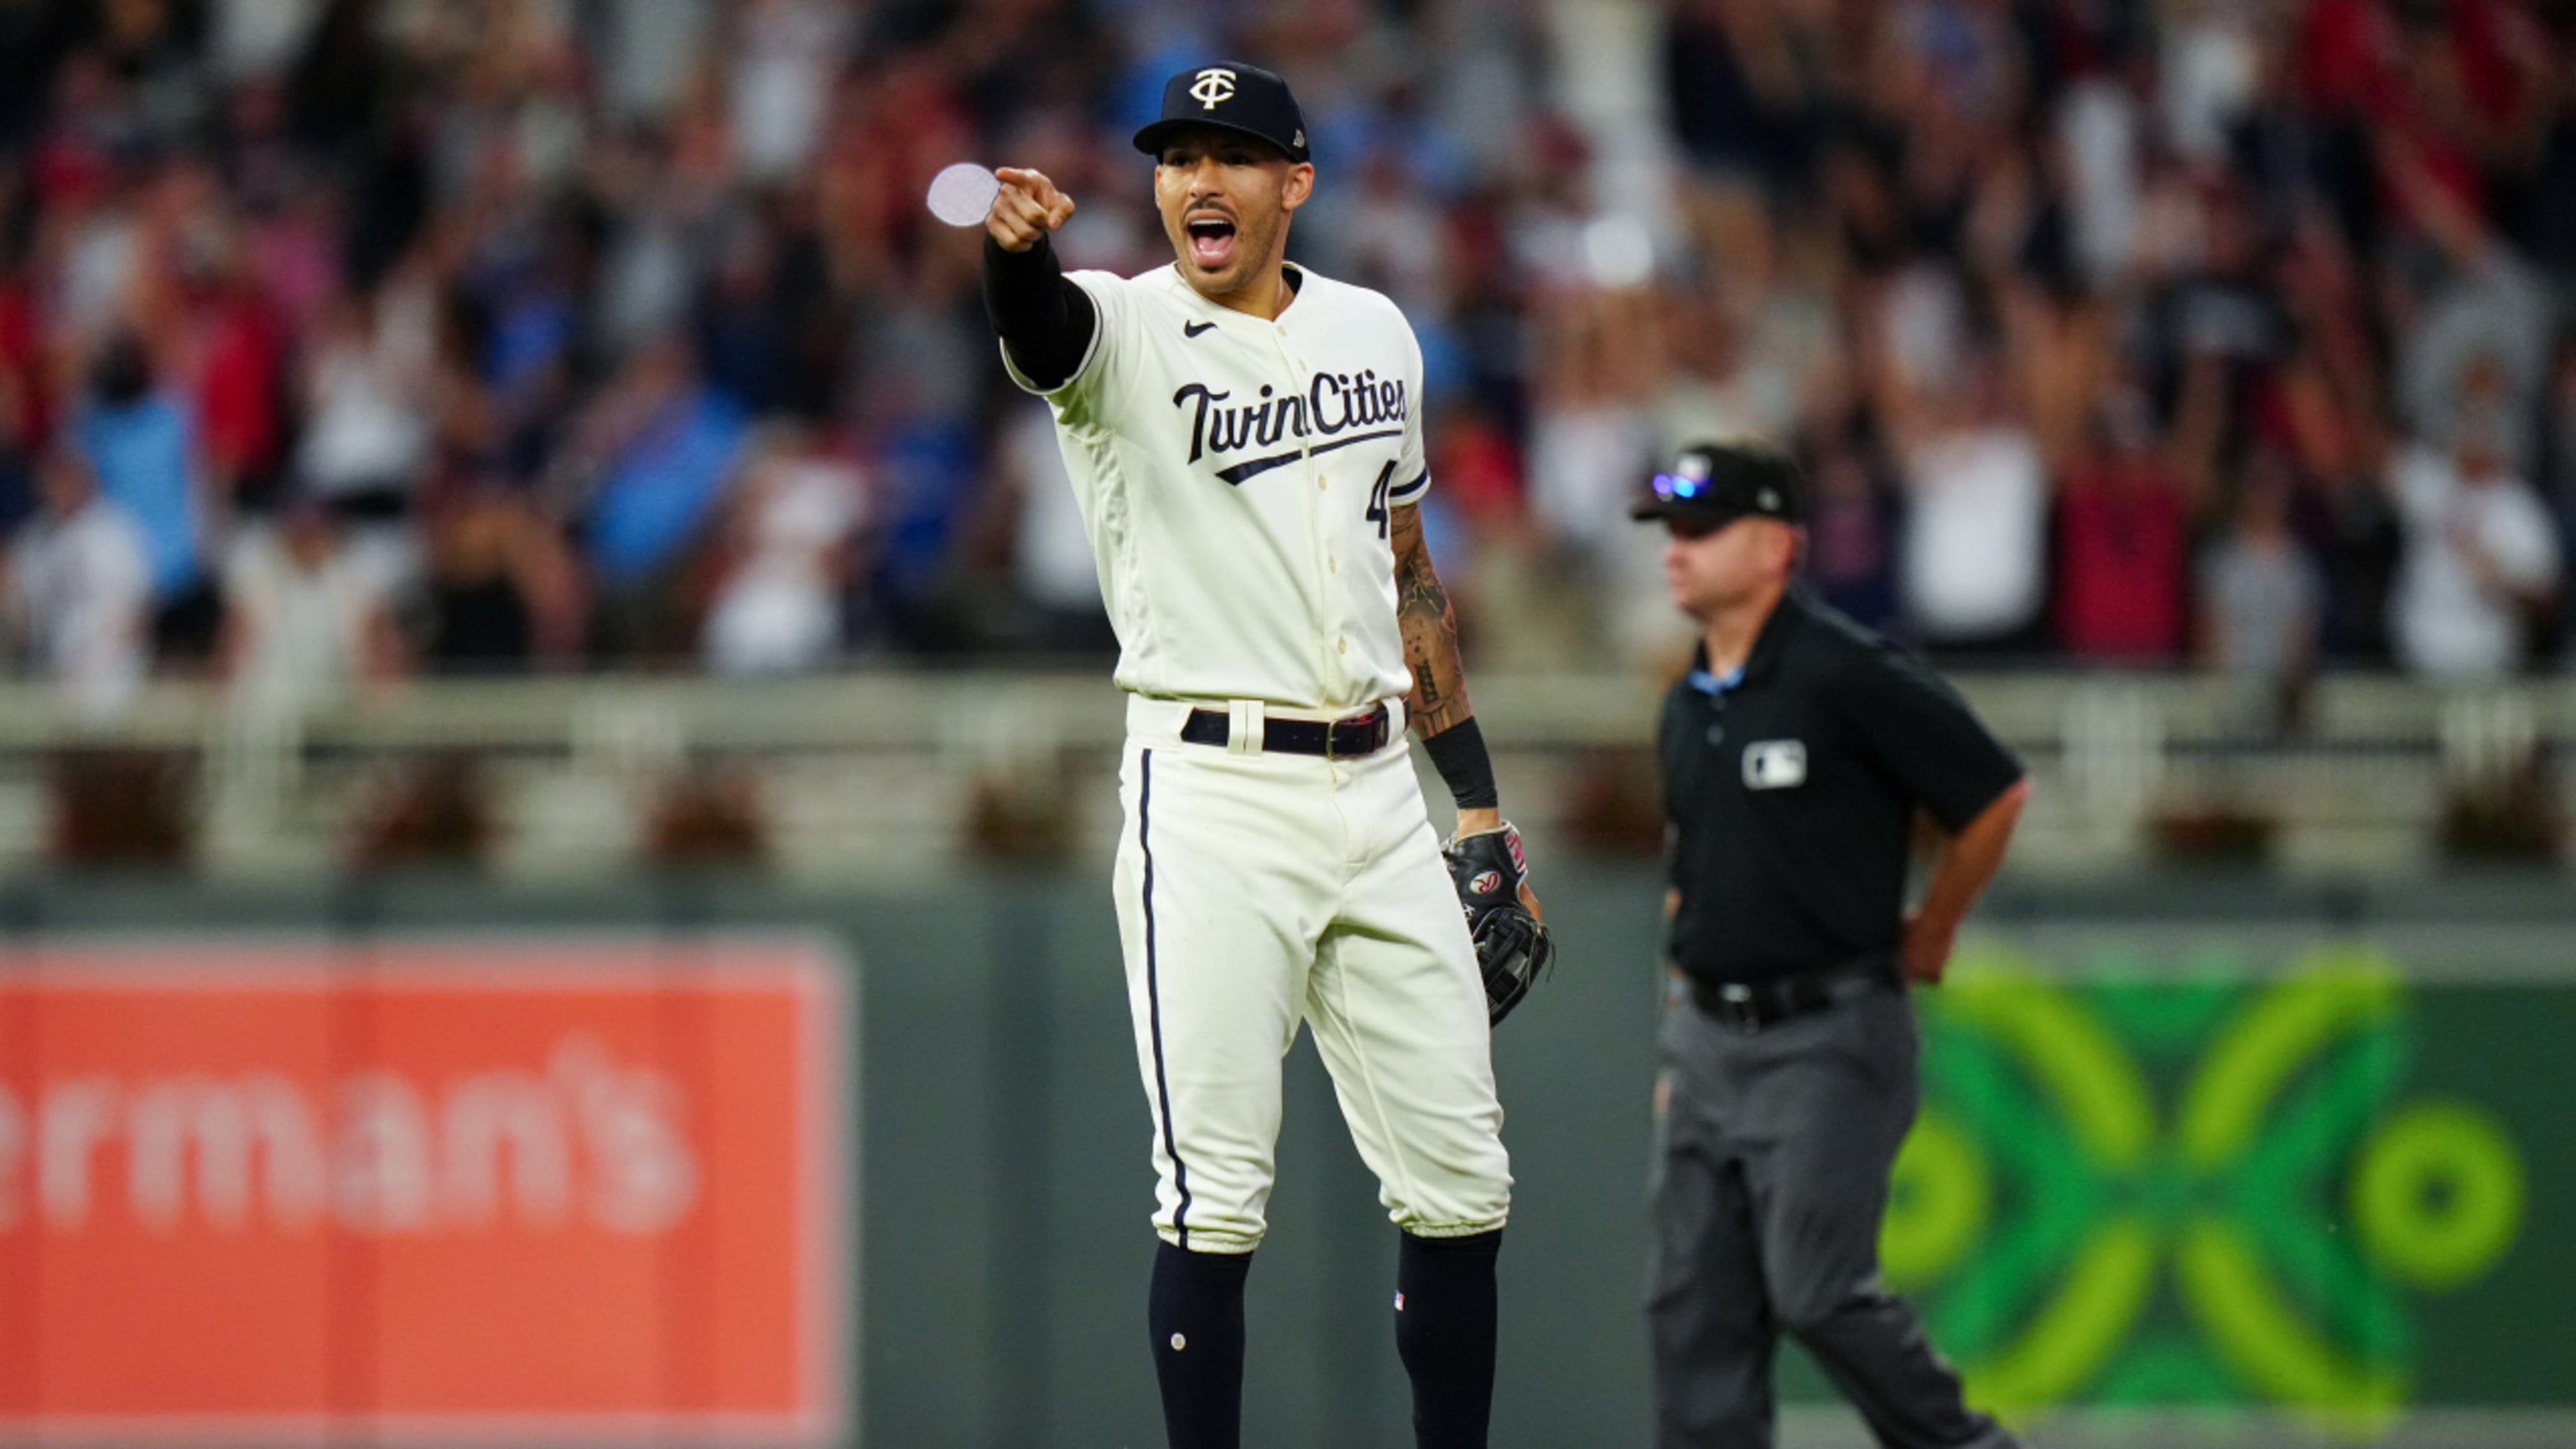
<svg viewBox="0 0 2576 1449">
<path fill-rule="evenodd" d="M 1888 954 L 1914 807 L 1945 830 L 2022 766 L 1906 650 L 1790 588 L 1731 678 L 1708 655 L 1664 696 L 1672 959 L 1762 982 Z"/>
</svg>

